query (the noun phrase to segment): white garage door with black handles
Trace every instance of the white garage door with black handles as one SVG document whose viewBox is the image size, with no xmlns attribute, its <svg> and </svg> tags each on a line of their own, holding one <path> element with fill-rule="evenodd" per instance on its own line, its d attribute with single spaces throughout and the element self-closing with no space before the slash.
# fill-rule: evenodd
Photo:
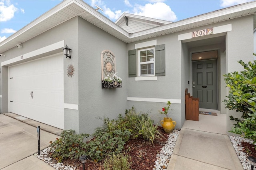
<svg viewBox="0 0 256 170">
<path fill-rule="evenodd" d="M 10 112 L 64 129 L 62 54 L 10 66 Z"/>
</svg>

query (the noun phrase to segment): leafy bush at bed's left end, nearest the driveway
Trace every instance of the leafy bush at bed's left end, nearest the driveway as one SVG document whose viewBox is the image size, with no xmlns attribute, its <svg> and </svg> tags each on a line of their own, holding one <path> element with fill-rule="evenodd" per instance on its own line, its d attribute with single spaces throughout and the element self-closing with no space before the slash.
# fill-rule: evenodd
<svg viewBox="0 0 256 170">
<path fill-rule="evenodd" d="M 81 155 L 85 154 L 83 140 L 89 134 L 75 135 L 73 130 L 64 130 L 60 134 L 60 139 L 50 141 L 51 152 L 50 155 L 61 162 L 63 159 L 78 159 Z"/>
</svg>

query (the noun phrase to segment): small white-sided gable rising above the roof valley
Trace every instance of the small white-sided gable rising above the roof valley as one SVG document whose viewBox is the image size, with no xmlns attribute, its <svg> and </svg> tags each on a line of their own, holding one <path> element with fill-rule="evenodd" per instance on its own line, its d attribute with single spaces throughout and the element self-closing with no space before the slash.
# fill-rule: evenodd
<svg viewBox="0 0 256 170">
<path fill-rule="evenodd" d="M 135 33 L 172 22 L 124 13 L 115 23 L 128 33 Z"/>
</svg>

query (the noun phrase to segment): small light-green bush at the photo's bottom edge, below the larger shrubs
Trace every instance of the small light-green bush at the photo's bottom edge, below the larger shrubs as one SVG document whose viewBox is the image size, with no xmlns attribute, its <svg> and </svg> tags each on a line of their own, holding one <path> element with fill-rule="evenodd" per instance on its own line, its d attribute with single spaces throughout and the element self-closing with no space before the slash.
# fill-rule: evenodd
<svg viewBox="0 0 256 170">
<path fill-rule="evenodd" d="M 130 156 L 124 154 L 113 154 L 108 159 L 104 160 L 105 170 L 129 170 L 131 163 Z"/>
</svg>

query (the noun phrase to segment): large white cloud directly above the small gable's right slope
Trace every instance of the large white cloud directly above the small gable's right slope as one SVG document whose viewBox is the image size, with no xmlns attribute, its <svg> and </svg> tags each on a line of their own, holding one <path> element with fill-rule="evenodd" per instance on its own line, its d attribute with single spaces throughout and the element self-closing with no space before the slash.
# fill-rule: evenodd
<svg viewBox="0 0 256 170">
<path fill-rule="evenodd" d="M 134 6 L 134 14 L 145 16 L 148 18 L 156 18 L 159 20 L 176 21 L 177 16 L 172 11 L 170 6 L 163 2 L 156 2 L 154 4 L 145 4 L 145 6 L 136 4 Z"/>
</svg>

